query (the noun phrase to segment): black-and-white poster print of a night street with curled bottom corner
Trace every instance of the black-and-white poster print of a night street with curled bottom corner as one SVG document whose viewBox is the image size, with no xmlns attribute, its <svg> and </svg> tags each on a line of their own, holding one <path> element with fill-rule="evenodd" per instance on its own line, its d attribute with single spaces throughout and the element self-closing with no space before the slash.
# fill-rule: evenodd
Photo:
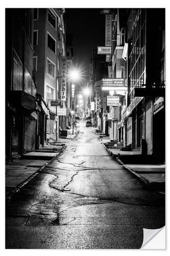
<svg viewBox="0 0 170 256">
<path fill-rule="evenodd" d="M 165 8 L 62 4 L 5 8 L 4 247 L 164 249 Z"/>
</svg>

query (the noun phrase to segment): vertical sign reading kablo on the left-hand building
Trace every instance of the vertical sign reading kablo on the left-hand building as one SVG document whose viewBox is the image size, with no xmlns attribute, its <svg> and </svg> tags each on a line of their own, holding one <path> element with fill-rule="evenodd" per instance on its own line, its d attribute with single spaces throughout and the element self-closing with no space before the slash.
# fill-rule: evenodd
<svg viewBox="0 0 170 256">
<path fill-rule="evenodd" d="M 61 76 L 63 76 L 61 78 L 61 100 L 62 101 L 66 101 L 66 89 L 67 89 L 67 84 L 66 84 L 66 78 L 64 77 L 66 75 L 66 71 L 67 71 L 67 59 L 66 57 L 62 58 L 62 62 L 61 62 L 62 66 L 61 66 Z"/>
</svg>

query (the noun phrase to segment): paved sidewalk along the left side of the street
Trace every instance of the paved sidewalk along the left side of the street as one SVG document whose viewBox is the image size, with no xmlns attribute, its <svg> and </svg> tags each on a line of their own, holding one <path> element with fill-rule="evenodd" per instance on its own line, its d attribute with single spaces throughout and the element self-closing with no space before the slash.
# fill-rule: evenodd
<svg viewBox="0 0 170 256">
<path fill-rule="evenodd" d="M 64 151 L 66 144 L 77 134 L 69 136 L 69 139 L 60 139 L 54 143 L 48 143 L 35 152 L 23 154 L 20 159 L 6 163 L 6 197 L 8 200 L 25 184 L 33 179 L 41 170 Z"/>
</svg>

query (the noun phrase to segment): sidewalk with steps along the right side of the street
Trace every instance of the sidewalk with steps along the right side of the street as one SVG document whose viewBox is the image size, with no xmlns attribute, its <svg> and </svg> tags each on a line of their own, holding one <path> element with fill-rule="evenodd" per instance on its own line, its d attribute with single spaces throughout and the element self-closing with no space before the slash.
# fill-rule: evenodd
<svg viewBox="0 0 170 256">
<path fill-rule="evenodd" d="M 113 148 L 107 148 L 106 143 L 110 140 L 108 138 L 100 140 L 112 158 L 119 164 L 122 164 L 128 172 L 144 183 L 144 185 L 152 189 L 165 190 L 165 164 L 154 164 L 152 158 L 151 163 L 148 163 L 150 156 L 144 157 L 140 151 L 121 151 L 118 144 L 117 148 L 114 145 Z"/>
</svg>

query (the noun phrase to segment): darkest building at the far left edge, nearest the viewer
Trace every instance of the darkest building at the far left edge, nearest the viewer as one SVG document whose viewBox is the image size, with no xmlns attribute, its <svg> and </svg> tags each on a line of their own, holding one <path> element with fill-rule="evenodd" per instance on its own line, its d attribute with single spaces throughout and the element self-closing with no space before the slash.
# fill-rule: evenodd
<svg viewBox="0 0 170 256">
<path fill-rule="evenodd" d="M 33 9 L 6 9 L 6 159 L 34 151 L 37 135 Z"/>
</svg>

